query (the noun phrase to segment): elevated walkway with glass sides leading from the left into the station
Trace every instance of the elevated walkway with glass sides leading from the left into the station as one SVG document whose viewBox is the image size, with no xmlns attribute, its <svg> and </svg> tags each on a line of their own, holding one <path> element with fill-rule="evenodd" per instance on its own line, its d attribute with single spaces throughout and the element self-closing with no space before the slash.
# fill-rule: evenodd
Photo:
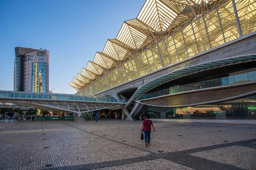
<svg viewBox="0 0 256 170">
<path fill-rule="evenodd" d="M 46 111 L 84 113 L 102 109 L 121 108 L 125 100 L 110 96 L 79 96 L 76 94 L 32 93 L 0 91 L 0 102 L 34 107 Z"/>
</svg>

